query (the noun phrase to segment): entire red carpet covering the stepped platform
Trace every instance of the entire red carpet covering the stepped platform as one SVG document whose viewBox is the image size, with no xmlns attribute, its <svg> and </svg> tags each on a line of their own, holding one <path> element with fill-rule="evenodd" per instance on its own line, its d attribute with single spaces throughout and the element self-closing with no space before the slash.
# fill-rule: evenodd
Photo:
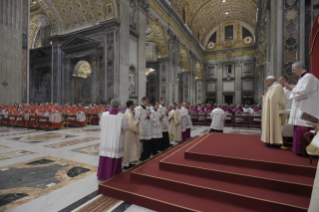
<svg viewBox="0 0 319 212">
<path fill-rule="evenodd" d="M 315 162 L 316 163 L 316 162 Z M 307 211 L 316 165 L 260 136 L 201 136 L 100 184 L 155 211 Z"/>
</svg>

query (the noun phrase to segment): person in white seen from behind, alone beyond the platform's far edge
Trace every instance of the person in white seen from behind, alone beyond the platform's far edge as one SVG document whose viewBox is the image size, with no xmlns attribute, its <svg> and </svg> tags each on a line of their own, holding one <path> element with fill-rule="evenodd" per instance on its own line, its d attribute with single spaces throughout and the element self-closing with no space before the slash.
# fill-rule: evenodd
<svg viewBox="0 0 319 212">
<path fill-rule="evenodd" d="M 221 105 L 217 105 L 217 108 L 215 108 L 211 113 L 210 117 L 212 119 L 212 123 L 210 125 L 210 133 L 212 132 L 224 132 L 224 122 L 226 119 L 226 113 L 223 109 L 220 108 Z"/>
</svg>

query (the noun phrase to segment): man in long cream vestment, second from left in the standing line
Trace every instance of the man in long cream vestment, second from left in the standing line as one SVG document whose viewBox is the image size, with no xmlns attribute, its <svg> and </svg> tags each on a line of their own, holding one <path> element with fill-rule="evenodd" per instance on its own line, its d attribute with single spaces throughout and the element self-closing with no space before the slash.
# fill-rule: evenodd
<svg viewBox="0 0 319 212">
<path fill-rule="evenodd" d="M 139 118 L 135 118 L 133 114 L 135 103 L 132 100 L 128 100 L 126 102 L 126 107 L 125 116 L 129 124 L 129 129 L 125 134 L 123 169 L 133 167 L 141 157 L 141 142 L 139 137 L 140 120 Z"/>
</svg>

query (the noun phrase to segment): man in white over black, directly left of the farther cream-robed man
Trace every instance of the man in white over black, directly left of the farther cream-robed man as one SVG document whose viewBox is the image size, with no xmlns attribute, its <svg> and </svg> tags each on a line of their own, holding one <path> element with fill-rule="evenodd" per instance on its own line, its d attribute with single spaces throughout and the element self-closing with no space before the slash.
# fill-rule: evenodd
<svg viewBox="0 0 319 212">
<path fill-rule="evenodd" d="M 169 133 L 168 133 L 169 131 L 168 112 L 169 111 L 165 104 L 166 104 L 166 98 L 162 97 L 161 104 L 158 108 L 158 112 L 161 114 L 160 122 L 162 125 L 162 134 L 163 134 L 162 143 L 159 146 L 160 151 L 163 151 L 170 146 Z"/>
</svg>

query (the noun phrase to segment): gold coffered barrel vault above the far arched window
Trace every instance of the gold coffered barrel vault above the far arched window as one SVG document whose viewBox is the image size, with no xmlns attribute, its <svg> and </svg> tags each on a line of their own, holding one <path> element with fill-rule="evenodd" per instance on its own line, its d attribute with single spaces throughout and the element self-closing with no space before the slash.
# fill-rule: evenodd
<svg viewBox="0 0 319 212">
<path fill-rule="evenodd" d="M 218 24 L 240 20 L 256 25 L 257 0 L 170 0 L 171 6 L 195 34 L 205 36 Z"/>
</svg>

